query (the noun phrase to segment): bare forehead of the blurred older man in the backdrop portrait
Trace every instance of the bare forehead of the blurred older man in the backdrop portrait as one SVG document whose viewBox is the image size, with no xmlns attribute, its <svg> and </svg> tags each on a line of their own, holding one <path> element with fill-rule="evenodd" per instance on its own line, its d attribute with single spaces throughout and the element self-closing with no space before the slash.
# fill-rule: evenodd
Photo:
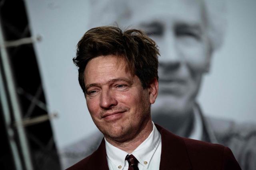
<svg viewBox="0 0 256 170">
<path fill-rule="evenodd" d="M 157 20 L 188 24 L 202 21 L 202 3 L 198 0 L 152 0 L 148 3 L 142 0 L 137 3 L 130 2 L 130 9 L 130 19 L 126 23 L 134 26 Z"/>
</svg>

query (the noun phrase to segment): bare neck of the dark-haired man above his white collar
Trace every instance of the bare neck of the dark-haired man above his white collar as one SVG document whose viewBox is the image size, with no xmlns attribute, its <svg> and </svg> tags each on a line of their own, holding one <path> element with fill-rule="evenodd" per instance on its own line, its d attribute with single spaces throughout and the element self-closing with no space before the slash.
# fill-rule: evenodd
<svg viewBox="0 0 256 170">
<path fill-rule="evenodd" d="M 153 130 L 152 120 L 150 119 L 142 126 L 141 131 L 139 131 L 131 140 L 118 142 L 113 139 L 107 138 L 106 140 L 113 146 L 124 150 L 127 153 L 132 153 L 143 141 L 147 139 Z"/>
</svg>

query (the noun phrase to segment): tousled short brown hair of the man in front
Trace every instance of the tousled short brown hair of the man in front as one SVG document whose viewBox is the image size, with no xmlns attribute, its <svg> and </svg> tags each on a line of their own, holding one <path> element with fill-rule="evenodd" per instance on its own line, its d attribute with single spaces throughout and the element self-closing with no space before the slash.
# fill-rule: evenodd
<svg viewBox="0 0 256 170">
<path fill-rule="evenodd" d="M 74 64 L 78 67 L 79 84 L 85 92 L 84 70 L 93 58 L 116 55 L 126 61 L 126 71 L 138 76 L 145 89 L 154 78 L 158 80 L 158 47 L 137 29 L 124 32 L 119 27 L 102 26 L 88 30 L 77 44 Z"/>
</svg>

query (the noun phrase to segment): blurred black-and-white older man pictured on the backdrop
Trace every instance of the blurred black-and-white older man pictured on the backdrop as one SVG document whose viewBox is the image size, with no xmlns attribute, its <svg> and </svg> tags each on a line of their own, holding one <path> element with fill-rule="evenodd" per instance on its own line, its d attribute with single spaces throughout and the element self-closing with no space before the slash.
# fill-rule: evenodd
<svg viewBox="0 0 256 170">
<path fill-rule="evenodd" d="M 182 137 L 228 146 L 243 169 L 256 168 L 255 126 L 205 117 L 196 101 L 211 57 L 222 43 L 226 24 L 222 1 L 110 0 L 94 2 L 92 11 L 90 25 L 114 21 L 122 27 L 131 25 L 143 29 L 159 46 L 159 94 L 152 105 L 155 123 Z M 93 140 L 93 145 L 86 138 L 67 152 L 88 155 L 101 138 Z M 66 160 L 76 162 L 78 155 Z"/>
</svg>

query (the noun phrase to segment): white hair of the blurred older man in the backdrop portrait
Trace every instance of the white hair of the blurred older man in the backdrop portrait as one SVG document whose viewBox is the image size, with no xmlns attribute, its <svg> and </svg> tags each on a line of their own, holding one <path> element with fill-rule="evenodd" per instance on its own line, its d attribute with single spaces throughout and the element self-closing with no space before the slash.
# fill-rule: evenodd
<svg viewBox="0 0 256 170">
<path fill-rule="evenodd" d="M 169 2 L 170 0 L 161 0 L 159 3 L 164 3 L 164 1 Z M 226 31 L 226 1 L 197 0 L 197 2 L 202 5 L 202 14 L 206 20 L 211 49 L 215 51 L 221 47 Z M 121 28 L 132 26 L 133 23 L 127 22 L 132 16 L 131 3 L 133 2 L 130 0 L 90 0 L 88 27 L 116 24 Z M 136 5 L 138 4 L 136 3 Z M 141 9 L 143 13 L 143 6 Z"/>
</svg>

